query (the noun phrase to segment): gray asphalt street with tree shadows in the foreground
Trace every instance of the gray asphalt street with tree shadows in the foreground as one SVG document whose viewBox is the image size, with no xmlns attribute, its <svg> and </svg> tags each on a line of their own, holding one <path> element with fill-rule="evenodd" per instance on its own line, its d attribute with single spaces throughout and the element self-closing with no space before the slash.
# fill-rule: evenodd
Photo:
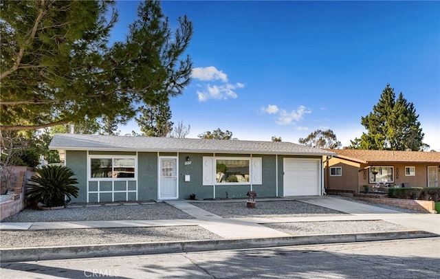
<svg viewBox="0 0 440 279">
<path fill-rule="evenodd" d="M 2 263 L 1 278 L 439 278 L 440 238 Z"/>
</svg>

